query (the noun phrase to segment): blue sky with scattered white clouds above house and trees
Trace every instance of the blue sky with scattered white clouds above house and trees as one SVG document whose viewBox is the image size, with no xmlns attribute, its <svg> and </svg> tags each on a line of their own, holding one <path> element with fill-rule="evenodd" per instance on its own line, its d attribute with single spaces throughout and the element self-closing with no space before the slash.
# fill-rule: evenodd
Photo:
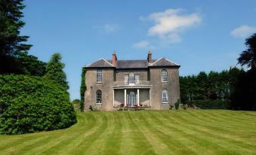
<svg viewBox="0 0 256 155">
<path fill-rule="evenodd" d="M 22 35 L 29 54 L 48 62 L 60 53 L 70 99 L 80 99 L 82 67 L 100 58 L 180 64 L 180 75 L 238 66 L 245 38 L 256 32 L 255 0 L 26 0 Z"/>
</svg>

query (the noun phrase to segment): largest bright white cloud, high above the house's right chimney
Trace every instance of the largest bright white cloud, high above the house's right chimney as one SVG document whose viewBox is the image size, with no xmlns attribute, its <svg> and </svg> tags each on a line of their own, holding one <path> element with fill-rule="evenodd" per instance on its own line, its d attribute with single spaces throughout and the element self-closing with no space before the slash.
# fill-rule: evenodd
<svg viewBox="0 0 256 155">
<path fill-rule="evenodd" d="M 184 9 L 168 9 L 163 12 L 140 17 L 143 21 L 153 21 L 154 25 L 148 30 L 148 35 L 158 36 L 162 41 L 177 43 L 181 41 L 180 32 L 201 23 L 199 14 L 181 14 Z"/>
</svg>

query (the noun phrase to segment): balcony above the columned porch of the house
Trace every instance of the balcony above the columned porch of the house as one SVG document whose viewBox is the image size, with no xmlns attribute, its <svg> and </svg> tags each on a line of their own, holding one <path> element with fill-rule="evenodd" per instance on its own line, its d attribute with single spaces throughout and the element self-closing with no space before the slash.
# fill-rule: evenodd
<svg viewBox="0 0 256 155">
<path fill-rule="evenodd" d="M 114 89 L 150 87 L 150 81 L 115 81 L 113 86 Z"/>
</svg>

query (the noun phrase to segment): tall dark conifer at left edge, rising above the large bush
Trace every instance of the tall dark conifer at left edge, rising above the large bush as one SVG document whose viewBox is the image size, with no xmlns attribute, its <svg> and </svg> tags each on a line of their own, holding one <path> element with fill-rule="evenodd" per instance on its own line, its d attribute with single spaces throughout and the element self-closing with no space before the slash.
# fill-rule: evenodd
<svg viewBox="0 0 256 155">
<path fill-rule="evenodd" d="M 17 56 L 32 46 L 24 44 L 28 36 L 20 35 L 20 28 L 25 25 L 20 20 L 23 8 L 23 0 L 0 1 L 0 74 L 22 73 Z"/>
</svg>

